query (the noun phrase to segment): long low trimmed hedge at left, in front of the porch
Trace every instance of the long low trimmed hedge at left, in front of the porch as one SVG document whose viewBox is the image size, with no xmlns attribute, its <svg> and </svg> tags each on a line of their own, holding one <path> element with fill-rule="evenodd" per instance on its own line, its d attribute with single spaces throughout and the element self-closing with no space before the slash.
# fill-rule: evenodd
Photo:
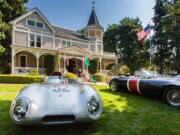
<svg viewBox="0 0 180 135">
<path fill-rule="evenodd" d="M 0 83 L 41 83 L 44 78 L 31 75 L 0 75 Z"/>
</svg>

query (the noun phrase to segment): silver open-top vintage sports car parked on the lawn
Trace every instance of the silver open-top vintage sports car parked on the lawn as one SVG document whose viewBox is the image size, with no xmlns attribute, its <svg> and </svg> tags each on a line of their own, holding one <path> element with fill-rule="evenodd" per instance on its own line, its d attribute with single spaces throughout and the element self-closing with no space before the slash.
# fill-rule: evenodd
<svg viewBox="0 0 180 135">
<path fill-rule="evenodd" d="M 101 99 L 93 87 L 57 76 L 24 87 L 10 109 L 13 122 L 20 125 L 90 122 L 101 113 Z"/>
</svg>

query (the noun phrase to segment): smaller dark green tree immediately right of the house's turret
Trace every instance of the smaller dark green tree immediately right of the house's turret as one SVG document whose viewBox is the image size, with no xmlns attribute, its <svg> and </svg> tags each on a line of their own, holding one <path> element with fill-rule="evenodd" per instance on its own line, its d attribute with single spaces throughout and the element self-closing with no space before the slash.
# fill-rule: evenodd
<svg viewBox="0 0 180 135">
<path fill-rule="evenodd" d="M 108 25 L 107 31 L 104 33 L 104 51 L 117 53 L 119 38 L 117 29 L 117 24 Z"/>
</svg>

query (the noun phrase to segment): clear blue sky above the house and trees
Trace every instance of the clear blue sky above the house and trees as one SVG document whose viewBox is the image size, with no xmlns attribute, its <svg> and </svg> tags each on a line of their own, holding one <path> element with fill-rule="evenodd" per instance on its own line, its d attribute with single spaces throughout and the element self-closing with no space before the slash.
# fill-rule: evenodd
<svg viewBox="0 0 180 135">
<path fill-rule="evenodd" d="M 145 27 L 154 15 L 155 0 L 95 0 L 100 24 L 119 23 L 124 17 L 139 17 Z M 29 0 L 28 9 L 38 7 L 51 24 L 78 30 L 84 28 L 92 10 L 92 0 Z"/>
</svg>

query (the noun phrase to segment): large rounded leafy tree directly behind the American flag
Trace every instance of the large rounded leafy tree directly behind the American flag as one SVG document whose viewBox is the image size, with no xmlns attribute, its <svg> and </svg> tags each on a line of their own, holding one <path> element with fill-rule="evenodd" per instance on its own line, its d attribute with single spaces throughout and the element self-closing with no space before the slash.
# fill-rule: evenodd
<svg viewBox="0 0 180 135">
<path fill-rule="evenodd" d="M 141 67 L 149 66 L 149 44 L 146 39 L 138 42 L 136 33 L 142 30 L 139 18 L 124 18 L 118 26 L 118 50 L 120 63 L 129 67 L 131 74 Z"/>
</svg>

